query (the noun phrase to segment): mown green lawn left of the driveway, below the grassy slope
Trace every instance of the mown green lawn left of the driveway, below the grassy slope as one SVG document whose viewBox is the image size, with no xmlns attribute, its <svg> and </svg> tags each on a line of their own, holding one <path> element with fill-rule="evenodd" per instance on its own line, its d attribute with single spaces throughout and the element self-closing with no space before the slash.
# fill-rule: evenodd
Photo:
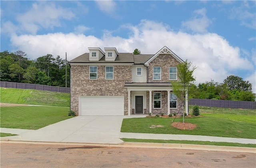
<svg viewBox="0 0 256 168">
<path fill-rule="evenodd" d="M 40 129 L 73 117 L 68 116 L 68 107 L 16 106 L 0 109 L 2 128 Z"/>
</svg>

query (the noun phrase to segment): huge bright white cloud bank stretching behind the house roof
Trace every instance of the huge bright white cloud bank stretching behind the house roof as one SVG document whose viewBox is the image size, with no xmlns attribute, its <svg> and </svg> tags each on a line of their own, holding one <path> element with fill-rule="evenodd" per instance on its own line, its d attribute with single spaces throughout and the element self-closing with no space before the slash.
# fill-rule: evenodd
<svg viewBox="0 0 256 168">
<path fill-rule="evenodd" d="M 154 25 L 154 26 L 153 26 Z M 122 27 L 122 26 L 121 26 Z M 226 39 L 215 33 L 188 34 L 172 31 L 168 25 L 142 20 L 139 25 L 125 25 L 130 37 L 122 38 L 107 32 L 102 38 L 75 33 L 49 33 L 45 35 L 12 35 L 12 45 L 36 59 L 46 54 L 68 60 L 88 52 L 88 47 L 116 47 L 118 52 L 130 52 L 138 48 L 142 54 L 154 54 L 164 46 L 171 49 L 181 59 L 192 61 L 197 83 L 210 81 L 222 82 L 227 76 L 243 70 L 246 78 L 255 71 L 253 55 L 238 47 L 231 46 Z M 252 55 L 250 57 L 250 55 Z M 239 75 L 238 75 L 239 76 Z M 252 82 L 250 80 L 250 82 Z"/>
</svg>

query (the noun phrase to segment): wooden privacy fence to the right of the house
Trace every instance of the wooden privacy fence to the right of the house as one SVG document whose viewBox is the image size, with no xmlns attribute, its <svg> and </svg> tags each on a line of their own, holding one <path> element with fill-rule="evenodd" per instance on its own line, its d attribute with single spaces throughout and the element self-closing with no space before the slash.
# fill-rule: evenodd
<svg viewBox="0 0 256 168">
<path fill-rule="evenodd" d="M 190 99 L 188 102 L 188 105 L 199 105 L 199 106 L 207 106 L 207 107 L 256 109 L 256 102 L 233 101 L 233 100 Z"/>
</svg>

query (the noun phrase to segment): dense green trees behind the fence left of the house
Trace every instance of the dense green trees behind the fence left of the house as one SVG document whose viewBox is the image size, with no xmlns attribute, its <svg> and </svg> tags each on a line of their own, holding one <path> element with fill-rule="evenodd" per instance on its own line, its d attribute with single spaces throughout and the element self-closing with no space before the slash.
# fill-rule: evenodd
<svg viewBox="0 0 256 168">
<path fill-rule="evenodd" d="M 47 54 L 30 60 L 23 51 L 0 53 L 0 80 L 66 86 L 66 60 Z M 67 87 L 70 86 L 70 66 L 67 65 Z"/>
</svg>

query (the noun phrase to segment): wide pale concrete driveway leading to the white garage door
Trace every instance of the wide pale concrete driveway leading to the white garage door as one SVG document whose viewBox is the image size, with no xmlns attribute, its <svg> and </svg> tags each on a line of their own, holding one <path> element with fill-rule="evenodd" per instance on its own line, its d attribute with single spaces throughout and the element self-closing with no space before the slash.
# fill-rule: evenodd
<svg viewBox="0 0 256 168">
<path fill-rule="evenodd" d="M 17 132 L 18 136 L 8 138 L 21 141 L 119 144 L 123 143 L 119 137 L 124 117 L 77 116 L 38 130 L 22 130 L 22 133 Z"/>
</svg>

